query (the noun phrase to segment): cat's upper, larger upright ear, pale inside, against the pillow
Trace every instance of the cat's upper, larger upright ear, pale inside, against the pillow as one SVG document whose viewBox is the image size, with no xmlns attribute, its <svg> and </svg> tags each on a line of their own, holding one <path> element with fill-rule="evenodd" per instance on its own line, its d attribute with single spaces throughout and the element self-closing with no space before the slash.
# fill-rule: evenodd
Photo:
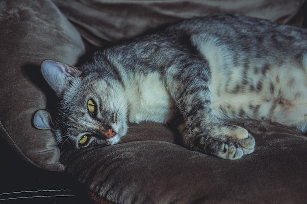
<svg viewBox="0 0 307 204">
<path fill-rule="evenodd" d="M 41 71 L 45 80 L 57 95 L 62 93 L 73 77 L 78 77 L 82 73 L 74 66 L 52 60 L 44 60 L 41 64 Z"/>
</svg>

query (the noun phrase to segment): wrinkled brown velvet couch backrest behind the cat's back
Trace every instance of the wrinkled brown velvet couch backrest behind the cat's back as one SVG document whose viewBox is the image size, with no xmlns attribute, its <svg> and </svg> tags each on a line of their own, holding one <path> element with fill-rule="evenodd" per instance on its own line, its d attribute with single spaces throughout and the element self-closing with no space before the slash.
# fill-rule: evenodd
<svg viewBox="0 0 307 204">
<path fill-rule="evenodd" d="M 53 1 L 84 38 L 101 46 L 105 41 L 130 39 L 161 25 L 211 13 L 237 13 L 290 23 L 305 0 Z"/>
</svg>

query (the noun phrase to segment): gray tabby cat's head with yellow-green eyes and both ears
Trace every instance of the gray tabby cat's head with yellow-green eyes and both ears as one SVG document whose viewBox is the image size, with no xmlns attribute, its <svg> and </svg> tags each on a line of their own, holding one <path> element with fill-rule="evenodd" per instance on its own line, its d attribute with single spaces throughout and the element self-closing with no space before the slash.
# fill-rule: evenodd
<svg viewBox="0 0 307 204">
<path fill-rule="evenodd" d="M 36 128 L 50 129 L 58 143 L 76 148 L 116 144 L 125 136 L 128 103 L 121 83 L 109 74 L 102 77 L 51 60 L 43 61 L 41 71 L 58 101 L 54 112 L 35 113 Z"/>
</svg>

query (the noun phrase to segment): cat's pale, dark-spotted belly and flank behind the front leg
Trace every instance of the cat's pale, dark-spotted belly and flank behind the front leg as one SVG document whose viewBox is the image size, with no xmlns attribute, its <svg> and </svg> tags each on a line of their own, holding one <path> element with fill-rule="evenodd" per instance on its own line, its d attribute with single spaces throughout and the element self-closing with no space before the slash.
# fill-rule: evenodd
<svg viewBox="0 0 307 204">
<path fill-rule="evenodd" d="M 202 40 L 199 49 L 210 67 L 212 103 L 216 115 L 221 118 L 270 120 L 293 127 L 306 123 L 306 55 L 302 62 L 287 55 L 251 58 L 232 44 L 222 44 L 213 37 L 205 37 L 199 37 Z M 278 50 L 269 54 L 276 52 Z M 280 54 L 282 56 L 282 51 Z"/>
</svg>

